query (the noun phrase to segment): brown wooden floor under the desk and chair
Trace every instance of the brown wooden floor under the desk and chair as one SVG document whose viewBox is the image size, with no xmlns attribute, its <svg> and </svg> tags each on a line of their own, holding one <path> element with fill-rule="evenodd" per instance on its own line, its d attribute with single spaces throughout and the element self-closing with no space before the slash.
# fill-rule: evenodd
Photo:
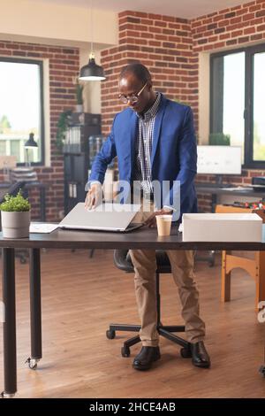
<svg viewBox="0 0 265 416">
<path fill-rule="evenodd" d="M 254 281 L 236 271 L 233 300 L 222 304 L 220 258 L 213 268 L 196 265 L 211 369 L 195 368 L 180 357 L 177 345 L 162 339 L 162 359 L 148 372 L 132 367 L 140 345 L 130 358 L 121 357 L 129 334 L 105 336 L 111 321 L 138 323 L 133 274 L 117 270 L 107 250 L 95 250 L 94 258 L 86 250 L 42 251 L 43 358 L 37 371 L 29 370 L 24 365 L 30 353 L 28 265 L 16 262 L 17 397 L 265 397 L 265 379 L 258 374 L 265 324 L 254 312 Z M 161 291 L 163 324 L 180 323 L 170 275 L 163 275 Z M 2 330 L 0 374 L 3 387 Z"/>
</svg>

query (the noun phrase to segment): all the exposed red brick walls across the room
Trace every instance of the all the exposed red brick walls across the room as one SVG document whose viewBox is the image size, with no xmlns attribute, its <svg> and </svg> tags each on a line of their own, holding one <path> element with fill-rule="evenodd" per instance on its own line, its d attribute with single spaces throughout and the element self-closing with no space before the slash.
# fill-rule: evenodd
<svg viewBox="0 0 265 416">
<path fill-rule="evenodd" d="M 180 19 L 143 12 L 118 15 L 117 47 L 102 51 L 107 81 L 102 82 L 102 130 L 110 131 L 113 116 L 123 106 L 117 101 L 117 75 L 135 60 L 147 65 L 154 87 L 169 98 L 190 104 L 198 129 L 198 54 L 224 47 L 238 48 L 265 39 L 265 1 L 254 2 L 211 13 L 198 19 Z M 55 138 L 60 112 L 75 104 L 72 76 L 79 71 L 79 50 L 33 43 L 6 42 L 0 38 L 0 56 L 49 58 L 51 167 L 37 167 L 40 181 L 47 183 L 47 219 L 58 220 L 64 206 L 63 158 L 57 155 Z M 265 172 L 245 170 L 242 176 L 224 178 L 233 183 L 250 183 L 251 177 Z M 198 181 L 214 181 L 198 175 Z M 3 174 L 0 180 L 3 180 Z M 34 217 L 39 215 L 38 190 L 32 190 Z M 201 209 L 208 210 L 208 196 L 200 197 Z"/>
</svg>

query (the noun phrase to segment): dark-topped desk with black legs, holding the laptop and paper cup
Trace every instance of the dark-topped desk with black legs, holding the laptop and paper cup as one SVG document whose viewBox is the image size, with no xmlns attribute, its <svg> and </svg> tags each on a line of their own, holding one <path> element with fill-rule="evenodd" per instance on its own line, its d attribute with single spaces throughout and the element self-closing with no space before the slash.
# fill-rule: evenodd
<svg viewBox="0 0 265 416">
<path fill-rule="evenodd" d="M 3 302 L 4 327 L 4 395 L 17 391 L 16 309 L 15 309 L 15 261 L 14 250 L 30 250 L 30 317 L 31 358 L 42 358 L 42 310 L 41 310 L 41 249 L 149 249 L 149 250 L 260 250 L 265 256 L 265 243 L 193 243 L 182 242 L 177 227 L 170 236 L 159 237 L 156 229 L 140 228 L 132 233 L 105 233 L 57 229 L 51 234 L 31 234 L 24 239 L 4 239 L 3 248 Z M 265 262 L 263 262 L 265 264 Z M 265 270 L 262 293 L 265 293 Z M 87 280 L 89 284 L 89 279 Z"/>
</svg>

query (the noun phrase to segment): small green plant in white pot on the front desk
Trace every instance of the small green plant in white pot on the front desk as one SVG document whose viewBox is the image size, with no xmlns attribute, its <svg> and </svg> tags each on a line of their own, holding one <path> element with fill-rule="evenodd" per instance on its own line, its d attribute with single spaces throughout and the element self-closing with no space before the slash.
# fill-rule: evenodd
<svg viewBox="0 0 265 416">
<path fill-rule="evenodd" d="M 30 204 L 19 189 L 17 196 L 4 196 L 0 204 L 4 238 L 24 238 L 29 236 Z"/>
</svg>

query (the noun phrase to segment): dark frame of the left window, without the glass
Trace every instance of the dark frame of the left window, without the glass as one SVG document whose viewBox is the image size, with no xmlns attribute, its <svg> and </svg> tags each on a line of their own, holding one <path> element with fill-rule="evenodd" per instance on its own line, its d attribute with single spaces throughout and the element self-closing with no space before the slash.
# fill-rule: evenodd
<svg viewBox="0 0 265 416">
<path fill-rule="evenodd" d="M 28 58 L 11 58 L 11 57 L 1 57 L 0 62 L 13 62 L 19 64 L 33 64 L 39 66 L 40 71 L 40 143 L 41 143 L 41 160 L 39 162 L 31 162 L 31 166 L 44 166 L 45 165 L 45 127 L 44 127 L 44 88 L 43 88 L 43 62 L 38 59 L 28 59 Z M 17 166 L 26 166 L 26 162 L 18 162 Z"/>
</svg>

